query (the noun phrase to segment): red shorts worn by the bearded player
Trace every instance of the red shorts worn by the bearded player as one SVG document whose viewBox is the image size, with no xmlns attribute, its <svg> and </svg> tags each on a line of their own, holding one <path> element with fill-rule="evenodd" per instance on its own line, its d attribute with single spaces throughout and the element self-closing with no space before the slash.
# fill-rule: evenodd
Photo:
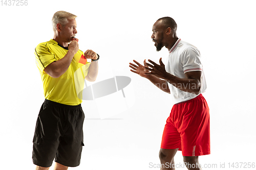
<svg viewBox="0 0 256 170">
<path fill-rule="evenodd" d="M 162 149 L 179 149 L 183 156 L 210 154 L 210 116 L 203 95 L 175 104 L 166 120 Z"/>
</svg>

